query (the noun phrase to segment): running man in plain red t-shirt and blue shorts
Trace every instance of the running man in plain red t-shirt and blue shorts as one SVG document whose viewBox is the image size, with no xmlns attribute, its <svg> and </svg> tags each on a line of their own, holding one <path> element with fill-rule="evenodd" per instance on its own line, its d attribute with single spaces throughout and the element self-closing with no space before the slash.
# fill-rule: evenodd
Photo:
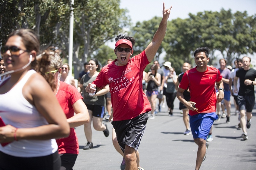
<svg viewBox="0 0 256 170">
<path fill-rule="evenodd" d="M 206 137 L 213 122 L 218 118 L 215 114 L 216 102 L 224 98 L 224 89 L 220 71 L 207 66 L 209 62 L 208 47 L 197 48 L 194 52 L 195 68 L 186 71 L 180 82 L 177 98 L 189 109 L 189 123 L 195 143 L 198 145 L 195 169 L 198 170 L 206 157 Z M 215 83 L 219 89 L 216 98 Z M 183 92 L 189 88 L 190 101 L 186 101 Z"/>
</svg>

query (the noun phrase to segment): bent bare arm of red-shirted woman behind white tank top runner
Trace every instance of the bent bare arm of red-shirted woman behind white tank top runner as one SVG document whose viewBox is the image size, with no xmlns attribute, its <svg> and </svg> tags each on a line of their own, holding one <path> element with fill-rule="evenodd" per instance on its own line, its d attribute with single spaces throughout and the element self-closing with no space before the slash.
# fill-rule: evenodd
<svg viewBox="0 0 256 170">
<path fill-rule="evenodd" d="M 82 99 L 77 100 L 73 105 L 75 115 L 67 119 L 70 127 L 81 126 L 89 123 L 89 113 Z"/>
</svg>

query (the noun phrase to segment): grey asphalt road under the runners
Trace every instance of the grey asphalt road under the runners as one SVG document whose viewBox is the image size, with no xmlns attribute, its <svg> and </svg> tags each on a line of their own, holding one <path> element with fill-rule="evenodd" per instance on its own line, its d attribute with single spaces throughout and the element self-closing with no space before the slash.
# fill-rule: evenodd
<svg viewBox="0 0 256 170">
<path fill-rule="evenodd" d="M 207 157 L 201 170 L 255 170 L 256 169 L 256 107 L 253 109 L 251 128 L 247 130 L 248 140 L 241 138 L 242 130 L 238 127 L 238 116 L 234 115 L 233 97 L 230 124 L 226 118 L 214 122 L 213 141 L 209 142 Z M 140 166 L 145 170 L 183 170 L 195 169 L 197 145 L 192 135 L 183 135 L 186 130 L 176 98 L 174 114 L 168 116 L 167 108 L 148 120 L 145 134 L 139 146 Z M 110 122 L 104 121 L 112 130 Z M 92 127 L 93 129 L 93 127 Z M 92 131 L 94 148 L 83 150 L 87 143 L 83 126 L 76 128 L 80 150 L 73 167 L 74 170 L 118 170 L 122 162 L 121 155 L 112 144 L 111 133 L 106 138 L 101 131 Z"/>
</svg>

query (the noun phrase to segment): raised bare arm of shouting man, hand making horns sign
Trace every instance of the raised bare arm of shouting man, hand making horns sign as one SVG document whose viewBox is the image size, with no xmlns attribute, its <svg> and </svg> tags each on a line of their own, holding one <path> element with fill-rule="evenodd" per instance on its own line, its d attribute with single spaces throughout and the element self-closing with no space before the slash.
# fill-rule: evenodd
<svg viewBox="0 0 256 170">
<path fill-rule="evenodd" d="M 170 10 L 171 10 L 172 6 L 168 9 L 165 9 L 165 4 L 163 2 L 163 18 L 162 21 L 158 27 L 158 30 L 156 31 L 152 42 L 147 46 L 147 48 L 145 49 L 145 53 L 147 55 L 148 61 L 151 62 L 154 57 L 155 54 L 159 48 L 159 46 L 161 45 L 164 36 L 165 36 L 165 32 L 166 32 L 166 28 L 167 28 L 167 20 L 169 18 L 170 15 Z"/>
</svg>

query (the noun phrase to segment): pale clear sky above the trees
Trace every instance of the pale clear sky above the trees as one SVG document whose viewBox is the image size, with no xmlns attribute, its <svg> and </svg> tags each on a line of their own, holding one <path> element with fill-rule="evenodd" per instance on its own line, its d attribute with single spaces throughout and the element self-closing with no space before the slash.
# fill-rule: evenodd
<svg viewBox="0 0 256 170">
<path fill-rule="evenodd" d="M 197 14 L 203 11 L 218 11 L 231 9 L 236 11 L 247 11 L 248 15 L 256 14 L 256 0 L 121 0 L 120 8 L 129 10 L 133 24 L 136 22 L 150 20 L 154 16 L 162 16 L 163 2 L 165 7 L 173 6 L 169 21 L 176 18 L 185 19 L 189 13 Z"/>
</svg>

